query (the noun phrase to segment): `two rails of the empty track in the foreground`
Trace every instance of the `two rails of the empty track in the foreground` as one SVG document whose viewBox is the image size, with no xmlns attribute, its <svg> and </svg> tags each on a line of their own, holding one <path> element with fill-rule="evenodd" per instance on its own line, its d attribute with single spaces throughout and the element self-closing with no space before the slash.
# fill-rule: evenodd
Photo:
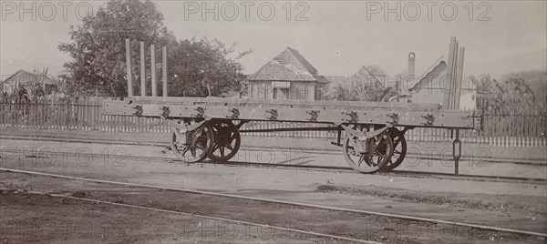
<svg viewBox="0 0 547 244">
<path fill-rule="evenodd" d="M 1 172 L 15 173 L 15 174 L 32 175 L 32 176 L 36 176 L 36 177 L 57 178 L 57 179 L 64 179 L 64 180 L 70 180 L 70 181 L 81 181 L 81 182 L 87 182 L 87 183 L 107 184 L 107 185 L 110 186 L 110 188 L 114 188 L 114 187 L 148 188 L 148 189 L 154 189 L 154 190 L 160 190 L 160 191 L 170 191 L 170 192 L 175 192 L 175 193 L 178 192 L 178 193 L 191 194 L 191 195 L 200 195 L 200 196 L 204 196 L 204 197 L 208 197 L 208 198 L 218 198 L 218 199 L 223 198 L 223 199 L 233 199 L 233 200 L 245 200 L 245 201 L 252 201 L 252 202 L 275 204 L 275 205 L 287 206 L 287 207 L 291 206 L 291 207 L 296 207 L 296 208 L 309 208 L 309 209 L 320 209 L 320 210 L 327 210 L 327 211 L 335 211 L 335 212 L 339 212 L 340 214 L 350 213 L 350 214 L 357 214 L 357 215 L 376 216 L 376 217 L 385 218 L 385 219 L 398 219 L 398 220 L 413 221 L 413 222 L 417 222 L 417 223 L 428 223 L 428 224 L 434 224 L 434 225 L 448 225 L 448 226 L 454 226 L 454 227 L 460 227 L 460 228 L 479 229 L 479 230 L 483 230 L 483 231 L 494 231 L 494 232 L 508 233 L 508 234 L 525 236 L 525 237 L 541 238 L 541 239 L 547 238 L 546 233 L 540 233 L 540 232 L 533 232 L 533 231 L 527 231 L 527 230 L 521 230 L 521 229 L 500 228 L 500 227 L 494 227 L 494 226 L 489 226 L 489 225 L 470 224 L 470 223 L 449 221 L 449 220 L 443 220 L 443 219 L 418 218 L 418 217 L 414 217 L 414 216 L 410 216 L 410 215 L 390 214 L 390 213 L 386 213 L 386 212 L 367 211 L 367 210 L 352 209 L 352 208 L 336 208 L 336 207 L 329 207 L 329 206 L 316 205 L 316 204 L 300 203 L 300 202 L 285 201 L 285 200 L 276 200 L 276 199 L 270 199 L 270 198 L 245 197 L 245 196 L 239 196 L 239 195 L 224 194 L 224 193 L 202 191 L 202 190 L 191 190 L 191 189 L 183 189 L 183 188 L 164 188 L 164 187 L 158 187 L 158 186 L 152 186 L 152 185 L 135 184 L 135 183 L 119 182 L 119 181 L 112 181 L 112 180 L 103 180 L 103 179 L 96 179 L 96 178 L 78 178 L 78 177 L 71 177 L 71 176 L 65 176 L 65 175 L 50 174 L 50 173 L 28 171 L 28 170 L 17 170 L 17 169 L 10 169 L 10 168 L 0 168 L 0 171 Z M 245 224 L 245 225 L 260 226 L 260 227 L 263 227 L 263 228 L 272 228 L 272 229 L 279 229 L 279 230 L 285 230 L 285 231 L 294 231 L 294 232 L 299 232 L 299 233 L 302 233 L 302 234 L 312 235 L 312 236 L 316 236 L 316 237 L 340 239 L 340 240 L 359 242 L 359 243 L 377 243 L 375 241 L 370 241 L 370 240 L 367 240 L 367 239 L 355 239 L 355 238 L 352 238 L 352 237 L 330 235 L 330 234 L 318 233 L 318 232 L 309 231 L 309 230 L 284 228 L 284 227 L 279 227 L 279 226 L 272 226 L 272 225 L 269 225 L 269 224 L 258 223 L 258 222 L 254 222 L 254 221 L 248 221 L 248 220 L 238 220 L 238 219 L 218 217 L 218 216 L 207 215 L 207 214 L 196 214 L 195 212 L 189 212 L 189 211 L 172 210 L 172 209 L 165 209 L 165 208 L 150 208 L 150 207 L 143 207 L 140 204 L 119 203 L 119 202 L 104 200 L 104 199 L 90 199 L 90 198 L 79 198 L 79 197 L 75 198 L 75 197 L 65 196 L 65 195 L 56 194 L 56 193 L 45 193 L 45 192 L 35 192 L 35 193 L 36 194 L 47 194 L 49 196 L 53 196 L 53 197 L 56 197 L 56 198 L 72 198 L 72 199 L 77 199 L 77 200 L 82 200 L 82 201 L 96 202 L 96 203 L 100 203 L 100 204 L 116 205 L 116 206 L 122 206 L 122 207 L 127 207 L 127 208 L 141 208 L 141 209 L 146 209 L 146 210 L 161 211 L 161 212 L 166 212 L 166 213 L 171 213 L 171 214 L 188 215 L 188 216 L 200 217 L 200 218 L 205 218 L 205 219 L 232 221 L 232 222 L 235 222 L 235 223 L 240 223 L 240 224 Z M 216 201 L 214 201 L 214 202 L 216 202 Z"/>
</svg>

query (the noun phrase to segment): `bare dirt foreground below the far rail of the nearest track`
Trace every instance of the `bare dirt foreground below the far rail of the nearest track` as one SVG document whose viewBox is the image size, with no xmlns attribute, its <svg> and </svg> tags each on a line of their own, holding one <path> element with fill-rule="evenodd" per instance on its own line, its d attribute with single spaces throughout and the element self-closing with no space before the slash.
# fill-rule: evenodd
<svg viewBox="0 0 547 244">
<path fill-rule="evenodd" d="M 254 200 L 218 198 L 170 190 L 129 188 L 49 177 L 0 173 L 4 242 L 80 240 L 108 242 L 346 243 L 302 233 L 238 226 L 219 220 L 182 217 L 29 193 L 39 191 L 246 220 L 385 243 L 542 243 L 545 239 L 365 214 L 300 208 Z M 351 219 L 351 220 L 348 220 Z M 196 222 L 198 222 L 196 224 Z M 240 229 L 243 233 L 240 234 Z"/>
</svg>

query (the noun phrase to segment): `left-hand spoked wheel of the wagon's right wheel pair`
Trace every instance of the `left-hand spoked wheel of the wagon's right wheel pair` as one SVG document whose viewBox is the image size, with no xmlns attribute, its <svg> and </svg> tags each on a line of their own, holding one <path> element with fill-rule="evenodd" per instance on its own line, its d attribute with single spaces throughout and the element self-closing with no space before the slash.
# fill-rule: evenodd
<svg viewBox="0 0 547 244">
<path fill-rule="evenodd" d="M 344 158 L 351 168 L 361 173 L 371 174 L 386 166 L 393 154 L 393 141 L 387 133 L 368 138 L 367 141 L 374 144 L 374 150 L 363 153 L 361 148 L 366 147 L 365 143 L 347 135 L 343 147 Z"/>
</svg>

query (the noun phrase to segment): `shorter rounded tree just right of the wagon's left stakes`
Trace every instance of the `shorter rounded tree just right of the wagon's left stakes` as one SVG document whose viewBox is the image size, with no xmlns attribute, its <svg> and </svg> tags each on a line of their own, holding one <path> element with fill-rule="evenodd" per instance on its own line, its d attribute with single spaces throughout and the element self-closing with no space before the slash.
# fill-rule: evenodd
<svg viewBox="0 0 547 244">
<path fill-rule="evenodd" d="M 245 76 L 238 59 L 250 54 L 217 39 L 182 40 L 170 47 L 170 96 L 218 97 L 242 90 Z"/>
</svg>

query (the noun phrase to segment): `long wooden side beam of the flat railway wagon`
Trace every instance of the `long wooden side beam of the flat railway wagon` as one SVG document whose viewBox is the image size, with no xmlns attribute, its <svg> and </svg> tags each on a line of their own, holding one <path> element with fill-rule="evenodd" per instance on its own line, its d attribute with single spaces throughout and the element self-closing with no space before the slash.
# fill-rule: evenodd
<svg viewBox="0 0 547 244">
<path fill-rule="evenodd" d="M 138 104 L 111 101 L 104 106 L 105 115 L 205 119 L 232 119 L 277 122 L 373 124 L 390 127 L 480 128 L 480 117 L 470 111 L 440 110 L 400 111 L 394 109 L 354 109 L 321 107 L 245 107 L 212 105 Z"/>
</svg>

